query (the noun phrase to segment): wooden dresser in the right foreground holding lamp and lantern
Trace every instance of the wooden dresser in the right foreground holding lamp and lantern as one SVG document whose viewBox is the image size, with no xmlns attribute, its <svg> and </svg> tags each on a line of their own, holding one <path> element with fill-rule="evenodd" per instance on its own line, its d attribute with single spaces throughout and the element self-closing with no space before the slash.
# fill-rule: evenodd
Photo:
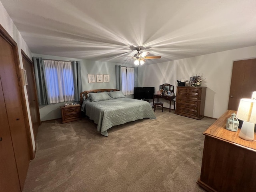
<svg viewBox="0 0 256 192">
<path fill-rule="evenodd" d="M 241 139 L 240 129 L 226 130 L 226 121 L 233 112 L 225 112 L 203 133 L 204 152 L 197 184 L 209 192 L 256 191 L 256 141 Z"/>
</svg>

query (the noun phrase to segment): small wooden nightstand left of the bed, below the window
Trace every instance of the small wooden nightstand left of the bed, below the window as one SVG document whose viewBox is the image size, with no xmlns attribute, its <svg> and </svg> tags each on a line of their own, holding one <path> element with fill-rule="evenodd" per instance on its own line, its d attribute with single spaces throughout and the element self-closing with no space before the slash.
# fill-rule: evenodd
<svg viewBox="0 0 256 192">
<path fill-rule="evenodd" d="M 60 106 L 62 123 L 72 122 L 81 119 L 81 106 Z"/>
</svg>

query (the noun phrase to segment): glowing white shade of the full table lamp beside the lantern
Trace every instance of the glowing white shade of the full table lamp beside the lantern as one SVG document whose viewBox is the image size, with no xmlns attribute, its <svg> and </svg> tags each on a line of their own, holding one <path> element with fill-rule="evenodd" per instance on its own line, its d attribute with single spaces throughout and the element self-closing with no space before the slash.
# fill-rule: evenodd
<svg viewBox="0 0 256 192">
<path fill-rule="evenodd" d="M 236 118 L 242 121 L 256 123 L 256 100 L 241 99 Z"/>
</svg>

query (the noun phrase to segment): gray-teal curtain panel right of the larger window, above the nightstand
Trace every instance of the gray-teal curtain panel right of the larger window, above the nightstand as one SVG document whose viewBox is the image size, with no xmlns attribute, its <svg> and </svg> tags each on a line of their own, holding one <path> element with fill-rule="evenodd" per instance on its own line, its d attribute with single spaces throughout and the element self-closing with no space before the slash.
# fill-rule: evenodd
<svg viewBox="0 0 256 192">
<path fill-rule="evenodd" d="M 80 93 L 82 92 L 81 80 L 81 64 L 80 61 L 72 61 L 73 78 L 74 78 L 74 97 L 75 101 L 80 100 Z"/>
</svg>

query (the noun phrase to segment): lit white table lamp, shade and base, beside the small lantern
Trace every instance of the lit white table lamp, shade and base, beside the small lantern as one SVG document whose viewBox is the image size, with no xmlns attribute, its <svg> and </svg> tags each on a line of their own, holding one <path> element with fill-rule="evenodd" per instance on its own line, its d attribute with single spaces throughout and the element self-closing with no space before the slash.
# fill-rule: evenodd
<svg viewBox="0 0 256 192">
<path fill-rule="evenodd" d="M 239 137 L 248 141 L 254 140 L 254 124 L 256 123 L 256 100 L 241 99 L 236 118 L 244 121 Z"/>
</svg>

